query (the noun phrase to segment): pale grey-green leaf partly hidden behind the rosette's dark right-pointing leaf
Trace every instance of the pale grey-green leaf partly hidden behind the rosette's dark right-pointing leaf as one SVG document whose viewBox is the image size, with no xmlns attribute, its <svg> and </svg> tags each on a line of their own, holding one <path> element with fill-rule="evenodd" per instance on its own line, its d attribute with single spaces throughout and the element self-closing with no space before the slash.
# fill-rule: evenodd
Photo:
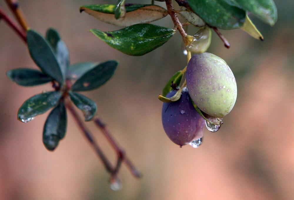
<svg viewBox="0 0 294 200">
<path fill-rule="evenodd" d="M 66 78 L 70 80 L 77 80 L 84 75 L 88 70 L 96 67 L 99 63 L 84 62 L 71 65 L 67 71 Z"/>
</svg>

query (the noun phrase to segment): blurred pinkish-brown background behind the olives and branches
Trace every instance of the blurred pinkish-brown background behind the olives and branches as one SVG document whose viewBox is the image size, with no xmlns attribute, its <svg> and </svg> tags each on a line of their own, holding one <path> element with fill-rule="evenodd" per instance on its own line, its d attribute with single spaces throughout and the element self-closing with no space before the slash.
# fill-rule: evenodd
<svg viewBox="0 0 294 200">
<path fill-rule="evenodd" d="M 179 148 L 161 125 L 162 102 L 157 99 L 168 79 L 186 65 L 177 33 L 162 47 L 141 57 L 116 51 L 89 32 L 118 30 L 86 13 L 83 4 L 112 1 L 19 0 L 31 28 L 45 34 L 56 28 L 69 47 L 71 63 L 119 60 L 113 78 L 87 92 L 136 167 L 135 179 L 125 166 L 123 189 L 112 191 L 109 174 L 69 115 L 67 134 L 54 152 L 42 143 L 48 113 L 24 124 L 16 113 L 24 100 L 51 90 L 51 85 L 24 88 L 5 75 L 14 68 L 37 68 L 21 39 L 0 21 L 0 199 L 15 200 L 178 200 L 293 199 L 294 197 L 294 1 L 275 1 L 278 22 L 270 27 L 250 16 L 263 33 L 258 41 L 238 30 L 223 31 L 226 49 L 213 33 L 208 52 L 223 58 L 238 83 L 234 109 L 216 132 L 205 130 L 203 144 Z M 150 3 L 150 1 L 127 1 Z M 156 2 L 164 6 L 162 2 Z M 0 1 L 9 13 L 9 9 Z M 11 13 L 9 13 L 11 17 Z M 169 16 L 154 24 L 172 28 Z M 190 35 L 196 29 L 190 28 Z M 116 154 L 103 135 L 99 145 L 112 162 Z"/>
</svg>

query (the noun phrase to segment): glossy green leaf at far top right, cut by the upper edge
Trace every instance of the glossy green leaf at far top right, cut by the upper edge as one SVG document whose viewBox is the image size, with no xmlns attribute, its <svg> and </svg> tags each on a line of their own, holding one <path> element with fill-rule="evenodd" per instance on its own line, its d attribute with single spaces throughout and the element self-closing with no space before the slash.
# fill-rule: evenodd
<svg viewBox="0 0 294 200">
<path fill-rule="evenodd" d="M 278 19 L 277 7 L 273 0 L 235 0 L 244 10 L 256 15 L 273 26 Z"/>
</svg>

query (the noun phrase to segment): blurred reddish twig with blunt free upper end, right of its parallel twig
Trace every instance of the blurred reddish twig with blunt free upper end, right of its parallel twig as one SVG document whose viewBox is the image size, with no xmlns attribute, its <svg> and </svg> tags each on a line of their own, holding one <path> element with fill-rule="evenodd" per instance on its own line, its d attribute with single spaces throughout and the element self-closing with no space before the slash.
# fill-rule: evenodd
<svg viewBox="0 0 294 200">
<path fill-rule="evenodd" d="M 119 144 L 113 138 L 111 133 L 107 130 L 105 124 L 103 122 L 101 122 L 101 120 L 98 117 L 95 118 L 94 122 L 95 122 L 96 126 L 101 130 L 103 135 L 106 137 L 108 142 L 111 144 L 113 149 L 115 149 L 116 153 L 118 154 L 118 157 L 121 158 L 121 161 L 126 164 L 128 169 L 131 171 L 131 173 L 135 177 L 140 178 L 142 176 L 141 173 L 138 172 L 136 167 L 134 167 L 132 162 L 128 159 L 128 157 L 126 156 L 126 152 L 119 146 Z"/>
</svg>

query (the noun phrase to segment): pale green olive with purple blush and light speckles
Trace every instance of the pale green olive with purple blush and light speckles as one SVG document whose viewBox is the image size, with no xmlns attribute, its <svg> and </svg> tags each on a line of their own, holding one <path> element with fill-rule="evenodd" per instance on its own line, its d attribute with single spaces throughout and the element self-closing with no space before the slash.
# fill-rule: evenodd
<svg viewBox="0 0 294 200">
<path fill-rule="evenodd" d="M 191 99 L 200 110 L 223 118 L 235 105 L 237 85 L 227 63 L 212 53 L 194 55 L 186 73 Z"/>
</svg>

